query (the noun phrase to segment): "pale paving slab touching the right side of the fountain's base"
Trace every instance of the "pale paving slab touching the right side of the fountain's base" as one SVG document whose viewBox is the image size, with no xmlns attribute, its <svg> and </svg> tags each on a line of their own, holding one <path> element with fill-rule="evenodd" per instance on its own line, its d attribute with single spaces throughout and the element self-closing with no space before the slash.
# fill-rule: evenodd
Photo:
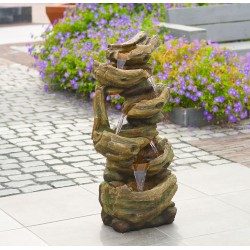
<svg viewBox="0 0 250 250">
<path fill-rule="evenodd" d="M 177 201 L 176 207 L 178 215 L 175 222 L 158 227 L 161 232 L 175 239 L 242 229 L 249 227 L 250 223 L 248 213 L 213 197 Z"/>
</svg>

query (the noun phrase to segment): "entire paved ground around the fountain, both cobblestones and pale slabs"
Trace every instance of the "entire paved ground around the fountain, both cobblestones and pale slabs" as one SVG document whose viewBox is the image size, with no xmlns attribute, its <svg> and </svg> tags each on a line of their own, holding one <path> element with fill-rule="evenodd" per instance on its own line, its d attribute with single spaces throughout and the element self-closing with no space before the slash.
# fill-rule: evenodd
<svg viewBox="0 0 250 250">
<path fill-rule="evenodd" d="M 24 53 L 21 43 L 10 47 Z M 20 63 L 0 58 L 0 245 L 250 244 L 249 119 L 231 127 L 160 123 L 175 153 L 176 220 L 119 234 L 100 217 L 105 159 L 92 145 L 91 102 L 44 92 L 38 72 Z M 109 115 L 115 127 L 120 113 Z"/>
</svg>

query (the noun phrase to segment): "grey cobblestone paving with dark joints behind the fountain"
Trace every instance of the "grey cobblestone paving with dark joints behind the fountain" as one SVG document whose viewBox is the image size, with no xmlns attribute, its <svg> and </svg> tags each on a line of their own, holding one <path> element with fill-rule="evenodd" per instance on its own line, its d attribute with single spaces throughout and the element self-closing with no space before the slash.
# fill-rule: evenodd
<svg viewBox="0 0 250 250">
<path fill-rule="evenodd" d="M 44 92 L 36 70 L 6 60 L 0 59 L 0 197 L 102 181 L 105 159 L 92 145 L 92 103 L 72 93 Z M 120 112 L 108 113 L 114 128 Z M 249 124 L 184 128 L 165 121 L 158 130 L 174 148 L 170 169 L 186 171 L 235 161 L 201 145 L 245 138 Z"/>
</svg>

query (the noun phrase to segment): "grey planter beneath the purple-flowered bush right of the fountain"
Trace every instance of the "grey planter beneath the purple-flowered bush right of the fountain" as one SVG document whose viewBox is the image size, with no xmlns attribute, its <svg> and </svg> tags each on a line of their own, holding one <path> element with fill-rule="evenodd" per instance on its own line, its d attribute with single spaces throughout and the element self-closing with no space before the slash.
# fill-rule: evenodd
<svg viewBox="0 0 250 250">
<path fill-rule="evenodd" d="M 218 120 L 208 121 L 203 115 L 203 108 L 177 108 L 168 112 L 168 119 L 183 127 L 202 127 L 219 122 Z M 225 120 L 224 120 L 225 121 Z M 222 122 L 222 121 L 221 121 Z"/>
</svg>

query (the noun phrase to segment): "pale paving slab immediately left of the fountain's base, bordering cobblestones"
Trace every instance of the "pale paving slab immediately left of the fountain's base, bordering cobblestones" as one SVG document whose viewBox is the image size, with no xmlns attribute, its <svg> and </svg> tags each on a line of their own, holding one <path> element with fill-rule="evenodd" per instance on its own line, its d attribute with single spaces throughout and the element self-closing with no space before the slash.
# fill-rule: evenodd
<svg viewBox="0 0 250 250">
<path fill-rule="evenodd" d="M 0 209 L 24 226 L 99 214 L 97 197 L 81 187 L 58 188 L 0 199 Z"/>
</svg>

